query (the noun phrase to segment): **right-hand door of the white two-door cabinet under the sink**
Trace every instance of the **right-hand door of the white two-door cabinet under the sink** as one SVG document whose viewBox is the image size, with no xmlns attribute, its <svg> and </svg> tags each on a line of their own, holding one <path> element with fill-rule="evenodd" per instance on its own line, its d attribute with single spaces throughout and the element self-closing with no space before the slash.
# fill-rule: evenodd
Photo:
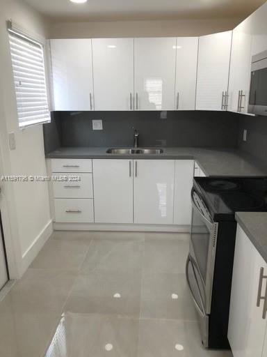
<svg viewBox="0 0 267 357">
<path fill-rule="evenodd" d="M 134 223 L 173 224 L 174 160 L 134 160 Z"/>
</svg>

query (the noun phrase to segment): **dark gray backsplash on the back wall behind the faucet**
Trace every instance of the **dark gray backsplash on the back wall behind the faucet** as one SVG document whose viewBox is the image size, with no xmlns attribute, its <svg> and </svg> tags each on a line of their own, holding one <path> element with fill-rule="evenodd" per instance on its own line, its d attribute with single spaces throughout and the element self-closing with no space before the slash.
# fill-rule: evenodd
<svg viewBox="0 0 267 357">
<path fill-rule="evenodd" d="M 58 146 L 132 146 L 133 128 L 140 146 L 213 146 L 236 148 L 237 114 L 227 112 L 53 112 L 44 126 L 45 152 Z M 92 130 L 102 119 L 103 130 Z"/>
</svg>

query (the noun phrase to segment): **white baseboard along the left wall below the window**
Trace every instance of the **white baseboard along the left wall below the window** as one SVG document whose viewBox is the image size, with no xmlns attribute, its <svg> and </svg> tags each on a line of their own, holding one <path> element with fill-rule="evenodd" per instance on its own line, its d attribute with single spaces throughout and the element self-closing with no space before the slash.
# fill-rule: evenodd
<svg viewBox="0 0 267 357">
<path fill-rule="evenodd" d="M 53 221 L 49 220 L 47 225 L 44 226 L 40 234 L 35 238 L 31 246 L 24 252 L 22 255 L 22 273 L 26 271 L 27 268 L 31 265 L 35 257 L 38 255 L 40 250 L 42 249 L 44 243 L 47 241 L 49 236 L 53 233 Z"/>
</svg>

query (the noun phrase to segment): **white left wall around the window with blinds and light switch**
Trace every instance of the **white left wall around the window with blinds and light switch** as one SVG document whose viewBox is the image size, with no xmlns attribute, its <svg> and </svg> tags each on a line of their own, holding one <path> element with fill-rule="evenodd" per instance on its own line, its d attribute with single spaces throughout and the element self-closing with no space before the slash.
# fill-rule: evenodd
<svg viewBox="0 0 267 357">
<path fill-rule="evenodd" d="M 47 37 L 47 24 L 19 0 L 0 0 L 0 9 L 0 174 L 46 175 L 42 126 L 18 128 L 6 20 L 11 18 L 27 31 L 42 37 Z M 8 149 L 8 132 L 15 132 L 17 147 L 13 151 Z M 0 204 L 10 273 L 11 278 L 18 278 L 51 234 L 48 185 L 1 183 L 1 188 Z"/>
</svg>

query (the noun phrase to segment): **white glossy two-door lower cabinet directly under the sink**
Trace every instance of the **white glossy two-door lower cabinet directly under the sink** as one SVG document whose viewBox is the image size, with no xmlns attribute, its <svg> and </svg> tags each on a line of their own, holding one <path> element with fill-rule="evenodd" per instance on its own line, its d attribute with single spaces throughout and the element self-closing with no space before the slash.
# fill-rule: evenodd
<svg viewBox="0 0 267 357">
<path fill-rule="evenodd" d="M 173 224 L 175 160 L 93 160 L 95 222 Z"/>
</svg>

